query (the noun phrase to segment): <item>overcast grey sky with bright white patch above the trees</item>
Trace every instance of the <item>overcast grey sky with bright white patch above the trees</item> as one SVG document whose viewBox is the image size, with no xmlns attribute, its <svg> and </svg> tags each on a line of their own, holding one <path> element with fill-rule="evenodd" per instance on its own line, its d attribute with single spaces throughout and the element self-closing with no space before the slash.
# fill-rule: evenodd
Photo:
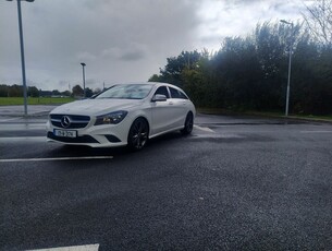
<svg viewBox="0 0 332 251">
<path fill-rule="evenodd" d="M 182 50 L 216 51 L 258 22 L 297 21 L 302 0 L 22 1 L 28 86 L 147 81 Z M 22 84 L 16 1 L 0 0 L 0 84 Z"/>
</svg>

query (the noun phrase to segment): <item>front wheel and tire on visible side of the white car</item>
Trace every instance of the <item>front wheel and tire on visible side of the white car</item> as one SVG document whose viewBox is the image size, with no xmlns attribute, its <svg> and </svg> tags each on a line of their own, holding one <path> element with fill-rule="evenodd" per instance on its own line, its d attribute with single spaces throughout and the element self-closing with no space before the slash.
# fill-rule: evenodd
<svg viewBox="0 0 332 251">
<path fill-rule="evenodd" d="M 128 147 L 134 151 L 142 150 L 146 145 L 148 136 L 148 122 L 144 118 L 137 118 L 130 129 L 127 139 Z"/>
</svg>

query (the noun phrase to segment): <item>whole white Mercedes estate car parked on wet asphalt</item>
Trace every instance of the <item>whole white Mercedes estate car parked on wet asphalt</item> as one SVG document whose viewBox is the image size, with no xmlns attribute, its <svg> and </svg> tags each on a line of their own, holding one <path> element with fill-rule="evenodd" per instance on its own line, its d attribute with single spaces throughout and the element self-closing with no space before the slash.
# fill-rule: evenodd
<svg viewBox="0 0 332 251">
<path fill-rule="evenodd" d="M 63 144 L 144 147 L 148 139 L 193 130 L 195 106 L 179 87 L 167 83 L 115 84 L 94 98 L 53 109 L 47 139 Z"/>
</svg>

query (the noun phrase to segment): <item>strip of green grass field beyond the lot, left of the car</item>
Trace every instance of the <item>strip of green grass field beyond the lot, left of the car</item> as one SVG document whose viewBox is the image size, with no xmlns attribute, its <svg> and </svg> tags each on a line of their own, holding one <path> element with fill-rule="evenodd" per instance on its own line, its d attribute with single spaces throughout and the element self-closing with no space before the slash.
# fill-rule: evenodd
<svg viewBox="0 0 332 251">
<path fill-rule="evenodd" d="M 28 97 L 28 105 L 54 105 L 74 101 L 72 97 Z M 0 106 L 23 105 L 23 97 L 0 97 Z"/>
</svg>

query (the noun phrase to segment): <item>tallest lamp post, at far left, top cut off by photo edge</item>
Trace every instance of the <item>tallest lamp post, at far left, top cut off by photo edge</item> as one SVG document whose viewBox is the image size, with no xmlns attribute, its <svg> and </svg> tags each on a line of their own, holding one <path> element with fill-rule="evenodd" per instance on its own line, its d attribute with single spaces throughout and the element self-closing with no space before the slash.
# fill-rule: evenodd
<svg viewBox="0 0 332 251">
<path fill-rule="evenodd" d="M 7 0 L 13 1 L 13 0 Z M 22 82 L 23 82 L 23 96 L 24 96 L 24 116 L 27 116 L 27 95 L 26 95 L 26 79 L 25 79 L 25 60 L 24 60 L 24 43 L 23 43 L 23 25 L 21 13 L 21 1 L 17 0 L 17 15 L 19 15 L 19 32 L 20 32 L 20 46 L 21 46 L 21 65 L 22 65 Z M 34 2 L 35 0 L 25 0 L 26 2 Z"/>
</svg>

